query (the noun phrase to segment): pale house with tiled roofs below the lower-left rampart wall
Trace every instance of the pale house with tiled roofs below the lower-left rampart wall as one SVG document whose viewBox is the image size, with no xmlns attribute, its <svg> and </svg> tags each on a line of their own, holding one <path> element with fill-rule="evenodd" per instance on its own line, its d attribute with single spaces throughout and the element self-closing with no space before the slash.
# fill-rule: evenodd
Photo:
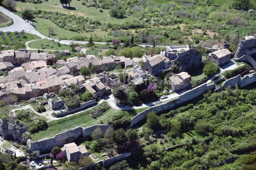
<svg viewBox="0 0 256 170">
<path fill-rule="evenodd" d="M 78 147 L 74 142 L 65 144 L 61 151 L 67 156 L 68 161 L 78 162 L 81 156 L 88 156 L 85 146 Z"/>
</svg>

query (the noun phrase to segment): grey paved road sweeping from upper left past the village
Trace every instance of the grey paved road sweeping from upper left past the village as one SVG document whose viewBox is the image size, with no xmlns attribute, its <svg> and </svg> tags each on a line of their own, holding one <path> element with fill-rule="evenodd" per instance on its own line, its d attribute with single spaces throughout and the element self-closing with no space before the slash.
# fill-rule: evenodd
<svg viewBox="0 0 256 170">
<path fill-rule="evenodd" d="M 24 30 L 27 33 L 37 35 L 41 38 L 47 38 L 48 40 L 54 40 L 55 42 L 59 42 L 59 40 L 52 39 L 52 38 L 46 37 L 45 35 L 42 35 L 40 32 L 35 30 L 35 28 L 32 27 L 28 22 L 25 22 L 25 20 L 23 20 L 19 16 L 13 14 L 12 12 L 8 11 L 7 9 L 5 9 L 1 6 L 0 6 L 0 11 L 2 13 L 6 14 L 7 16 L 11 17 L 14 21 L 13 25 L 11 25 L 9 27 L 0 28 L 0 31 L 14 32 L 14 31 Z M 66 44 L 66 45 L 69 45 L 70 42 L 74 42 L 74 43 L 78 43 L 78 44 L 87 44 L 88 43 L 88 41 L 74 41 L 74 40 L 61 40 L 60 41 L 61 44 Z M 94 43 L 95 44 L 106 44 L 105 42 L 94 42 Z M 140 44 L 140 46 L 145 47 L 145 45 L 142 45 L 142 44 Z M 151 45 L 151 46 L 153 46 L 153 45 Z"/>
</svg>

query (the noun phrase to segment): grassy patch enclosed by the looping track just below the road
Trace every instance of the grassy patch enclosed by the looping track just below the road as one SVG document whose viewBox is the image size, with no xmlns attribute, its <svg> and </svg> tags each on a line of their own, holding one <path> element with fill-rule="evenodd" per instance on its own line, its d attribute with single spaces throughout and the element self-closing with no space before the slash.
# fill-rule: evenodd
<svg viewBox="0 0 256 170">
<path fill-rule="evenodd" d="M 42 49 L 41 44 L 44 44 L 44 48 L 45 48 L 44 50 L 72 50 L 72 48 L 69 45 L 60 44 L 60 46 L 59 46 L 58 43 L 56 43 L 55 41 L 51 41 L 46 38 L 32 41 L 32 42 L 28 43 L 28 46 L 30 48 Z M 46 46 L 45 44 L 51 44 L 51 45 Z"/>
</svg>

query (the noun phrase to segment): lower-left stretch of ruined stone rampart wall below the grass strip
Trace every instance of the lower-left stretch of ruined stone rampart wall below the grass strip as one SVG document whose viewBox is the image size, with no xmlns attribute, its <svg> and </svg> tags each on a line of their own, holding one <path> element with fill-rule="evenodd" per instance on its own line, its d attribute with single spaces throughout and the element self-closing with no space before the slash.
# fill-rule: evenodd
<svg viewBox="0 0 256 170">
<path fill-rule="evenodd" d="M 96 129 L 97 127 L 100 127 L 102 132 L 104 133 L 108 127 L 113 127 L 113 125 L 93 125 L 86 128 L 76 127 L 74 129 L 59 133 L 51 138 L 38 141 L 28 140 L 28 152 L 31 152 L 33 150 L 39 150 L 40 153 L 50 152 L 55 146 L 63 147 L 64 144 L 74 142 L 76 139 L 90 136 L 94 129 Z"/>
</svg>

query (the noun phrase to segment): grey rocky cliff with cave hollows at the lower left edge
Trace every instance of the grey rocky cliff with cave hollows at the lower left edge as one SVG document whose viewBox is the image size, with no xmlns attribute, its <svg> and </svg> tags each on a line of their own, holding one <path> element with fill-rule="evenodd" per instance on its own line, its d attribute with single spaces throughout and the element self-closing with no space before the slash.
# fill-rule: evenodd
<svg viewBox="0 0 256 170">
<path fill-rule="evenodd" d="M 6 140 L 19 141 L 22 144 L 26 144 L 26 130 L 26 128 L 19 127 L 17 124 L 12 125 L 0 120 L 0 136 L 4 137 Z"/>
</svg>

